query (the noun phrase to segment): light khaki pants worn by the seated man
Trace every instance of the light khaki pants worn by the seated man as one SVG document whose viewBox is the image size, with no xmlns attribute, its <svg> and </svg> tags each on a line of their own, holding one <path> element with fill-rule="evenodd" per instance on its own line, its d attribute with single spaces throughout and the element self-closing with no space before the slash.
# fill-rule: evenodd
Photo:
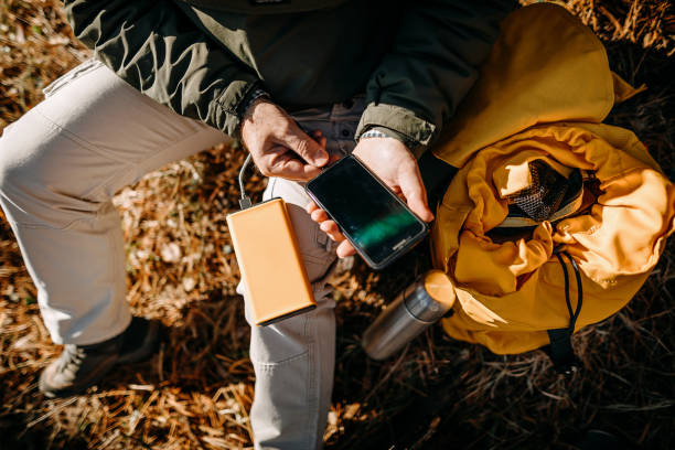
<svg viewBox="0 0 675 450">
<path fill-rule="evenodd" d="M 321 129 L 329 151 L 346 153 L 362 101 L 294 115 Z M 42 318 L 55 343 L 92 344 L 121 333 L 125 249 L 110 202 L 143 174 L 228 138 L 138 93 L 88 61 L 47 89 L 45 100 L 0 139 L 0 204 L 38 287 Z M 251 426 L 256 448 L 321 447 L 333 384 L 335 325 L 325 275 L 334 260 L 326 236 L 303 212 L 302 186 L 271 179 L 265 197 L 281 196 L 319 308 L 268 328 L 253 328 L 256 371 Z"/>
</svg>

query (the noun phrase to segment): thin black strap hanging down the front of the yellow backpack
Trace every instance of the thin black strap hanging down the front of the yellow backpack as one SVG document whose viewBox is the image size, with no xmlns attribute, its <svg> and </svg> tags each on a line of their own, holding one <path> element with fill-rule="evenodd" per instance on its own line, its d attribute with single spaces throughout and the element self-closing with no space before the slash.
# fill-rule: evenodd
<svg viewBox="0 0 675 450">
<path fill-rule="evenodd" d="M 581 366 L 571 345 L 571 335 L 575 332 L 575 325 L 577 324 L 577 319 L 581 312 L 583 288 L 581 286 L 581 274 L 579 272 L 579 266 L 577 266 L 577 262 L 572 259 L 572 257 L 569 256 L 567 251 L 555 251 L 555 254 L 560 262 L 560 267 L 562 267 L 562 275 L 565 277 L 565 302 L 567 303 L 567 311 L 569 312 L 569 326 L 564 329 L 548 330 L 548 339 L 550 344 L 544 350 L 548 353 L 548 356 L 554 363 L 556 371 L 566 376 L 570 376 Z M 562 254 L 567 256 L 571 262 L 572 269 L 575 270 L 575 278 L 577 280 L 577 308 L 574 311 L 571 301 L 569 299 L 569 274 L 567 272 L 567 266 L 562 259 Z"/>
</svg>

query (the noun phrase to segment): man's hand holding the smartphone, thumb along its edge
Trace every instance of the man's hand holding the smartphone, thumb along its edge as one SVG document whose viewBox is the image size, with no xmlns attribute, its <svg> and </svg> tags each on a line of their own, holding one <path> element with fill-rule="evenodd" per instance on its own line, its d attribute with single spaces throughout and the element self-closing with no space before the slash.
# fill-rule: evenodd
<svg viewBox="0 0 675 450">
<path fill-rule="evenodd" d="M 417 161 L 403 142 L 392 138 L 362 139 L 353 154 L 401 197 L 419 218 L 425 222 L 433 219 L 433 214 L 427 205 L 427 192 Z M 325 211 L 313 202 L 308 205 L 307 211 L 331 239 L 340 243 L 336 250 L 339 257 L 344 258 L 356 253 Z"/>
</svg>

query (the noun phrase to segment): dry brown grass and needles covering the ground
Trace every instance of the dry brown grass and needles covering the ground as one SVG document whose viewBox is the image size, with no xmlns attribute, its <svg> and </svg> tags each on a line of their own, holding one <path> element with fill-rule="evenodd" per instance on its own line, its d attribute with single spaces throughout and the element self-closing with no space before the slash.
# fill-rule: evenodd
<svg viewBox="0 0 675 450">
<path fill-rule="evenodd" d="M 649 90 L 610 122 L 634 129 L 673 179 L 675 52 L 665 1 L 569 1 L 608 43 L 615 71 Z M 86 57 L 54 0 L 0 3 L 0 128 L 41 88 Z M 51 344 L 35 289 L 0 224 L 0 448 L 237 449 L 250 447 L 248 328 L 225 226 L 242 151 L 216 148 L 176 162 L 116 197 L 127 238 L 128 300 L 164 325 L 151 362 L 121 367 L 87 395 L 47 400 L 36 377 Z M 264 180 L 251 179 L 258 194 Z M 330 449 L 571 448 L 588 428 L 629 448 L 675 446 L 673 244 L 638 297 L 576 336 L 585 369 L 569 383 L 540 352 L 503 357 L 440 328 L 384 363 L 360 335 L 385 299 L 428 267 L 418 249 L 383 274 L 356 261 L 333 279 L 339 302 Z"/>
</svg>

